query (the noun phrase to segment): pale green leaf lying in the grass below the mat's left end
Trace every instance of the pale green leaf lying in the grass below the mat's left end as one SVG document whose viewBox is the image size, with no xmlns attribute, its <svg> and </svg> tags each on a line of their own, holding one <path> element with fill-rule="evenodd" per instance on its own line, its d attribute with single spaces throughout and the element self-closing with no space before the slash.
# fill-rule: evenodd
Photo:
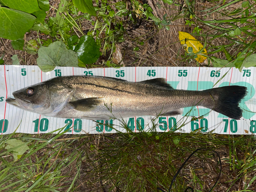
<svg viewBox="0 0 256 192">
<path fill-rule="evenodd" d="M 14 161 L 18 160 L 20 157 L 22 157 L 22 155 L 27 151 L 29 150 L 29 147 L 28 145 L 23 142 L 23 141 L 20 141 L 18 139 L 10 139 L 10 140 L 7 140 L 6 143 L 8 144 L 5 149 L 6 150 L 10 150 L 11 148 L 14 148 L 14 147 L 17 147 L 19 146 L 18 148 L 16 148 L 15 150 L 13 150 L 11 153 L 13 153 L 13 159 Z"/>
</svg>

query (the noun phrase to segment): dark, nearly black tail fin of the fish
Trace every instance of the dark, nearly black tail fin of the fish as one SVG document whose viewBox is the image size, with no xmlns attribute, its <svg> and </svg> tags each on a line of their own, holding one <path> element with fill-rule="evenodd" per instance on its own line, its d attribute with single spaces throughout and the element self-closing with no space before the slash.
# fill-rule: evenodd
<svg viewBox="0 0 256 192">
<path fill-rule="evenodd" d="M 247 88 L 242 86 L 226 86 L 207 90 L 215 100 L 214 111 L 239 120 L 243 110 L 239 102 L 247 94 Z"/>
</svg>

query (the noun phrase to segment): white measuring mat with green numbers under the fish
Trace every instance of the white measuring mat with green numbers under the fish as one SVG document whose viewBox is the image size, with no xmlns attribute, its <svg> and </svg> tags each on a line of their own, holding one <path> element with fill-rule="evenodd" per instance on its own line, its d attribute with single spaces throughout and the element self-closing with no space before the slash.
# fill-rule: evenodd
<svg viewBox="0 0 256 192">
<path fill-rule="evenodd" d="M 223 86 L 245 86 L 248 94 L 241 101 L 243 109 L 241 120 L 230 119 L 220 113 L 196 106 L 183 108 L 183 114 L 178 116 L 136 116 L 124 118 L 127 129 L 134 132 L 157 131 L 166 132 L 177 129 L 176 132 L 201 132 L 217 134 L 254 134 L 256 133 L 256 68 L 246 68 L 241 72 L 235 68 L 189 68 L 189 67 L 131 67 L 131 68 L 97 68 L 82 69 L 56 67 L 51 72 L 41 72 L 37 66 L 0 66 L 0 134 L 10 134 L 17 129 L 18 133 L 49 133 L 66 126 L 68 134 L 95 134 L 127 132 L 121 120 L 88 120 L 63 119 L 42 116 L 36 113 L 20 110 L 5 102 L 12 97 L 12 92 L 31 86 L 35 83 L 68 75 L 98 75 L 116 77 L 127 81 L 143 81 L 153 78 L 165 78 L 174 89 L 206 90 Z M 190 111 L 190 113 L 189 113 Z M 189 116 L 186 114 L 189 113 Z M 200 118 L 195 118 L 200 117 Z M 191 121 L 191 119 L 193 119 Z M 153 125 L 157 126 L 153 126 Z M 109 125 L 109 126 L 108 126 Z M 182 126 L 181 126 L 182 125 Z M 155 127 L 152 130 L 152 127 Z"/>
</svg>

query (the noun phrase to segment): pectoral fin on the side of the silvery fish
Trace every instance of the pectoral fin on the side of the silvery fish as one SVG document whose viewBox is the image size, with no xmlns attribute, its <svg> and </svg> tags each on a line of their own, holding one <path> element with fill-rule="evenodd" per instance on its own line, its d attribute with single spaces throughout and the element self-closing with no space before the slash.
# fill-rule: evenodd
<svg viewBox="0 0 256 192">
<path fill-rule="evenodd" d="M 103 103 L 103 98 L 91 97 L 69 102 L 72 109 L 86 112 Z"/>
</svg>

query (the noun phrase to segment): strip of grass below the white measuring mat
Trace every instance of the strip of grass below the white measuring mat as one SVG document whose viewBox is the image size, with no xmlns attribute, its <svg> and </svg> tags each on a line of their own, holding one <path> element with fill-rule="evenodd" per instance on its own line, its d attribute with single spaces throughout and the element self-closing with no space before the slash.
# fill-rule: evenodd
<svg viewBox="0 0 256 192">
<path fill-rule="evenodd" d="M 12 152 L 4 149 L 13 138 L 29 146 L 29 151 L 16 162 Z M 2 191 L 168 190 L 181 164 L 198 148 L 206 151 L 189 159 L 173 191 L 184 191 L 187 186 L 208 191 L 212 187 L 220 164 L 210 150 L 220 154 L 223 166 L 215 191 L 224 191 L 223 185 L 225 191 L 253 191 L 255 187 L 256 140 L 249 135 L 130 132 L 77 138 L 58 130 L 33 136 L 2 135 L 0 141 Z"/>
</svg>

